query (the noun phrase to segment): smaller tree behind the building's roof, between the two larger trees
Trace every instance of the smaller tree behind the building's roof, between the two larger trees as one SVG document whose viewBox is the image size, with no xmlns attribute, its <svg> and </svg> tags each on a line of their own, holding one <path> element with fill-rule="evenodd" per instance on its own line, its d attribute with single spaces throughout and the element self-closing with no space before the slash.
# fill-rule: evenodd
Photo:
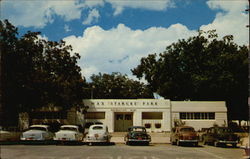
<svg viewBox="0 0 250 159">
<path fill-rule="evenodd" d="M 152 92 L 139 81 L 129 79 L 127 75 L 115 72 L 112 74 L 92 75 L 89 91 L 98 99 L 137 99 L 152 98 Z M 90 93 L 86 98 L 91 98 Z"/>
</svg>

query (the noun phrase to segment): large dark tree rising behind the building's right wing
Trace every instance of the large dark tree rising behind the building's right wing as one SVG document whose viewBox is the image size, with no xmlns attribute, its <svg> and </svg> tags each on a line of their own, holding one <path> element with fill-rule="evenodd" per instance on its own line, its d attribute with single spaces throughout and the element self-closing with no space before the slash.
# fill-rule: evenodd
<svg viewBox="0 0 250 159">
<path fill-rule="evenodd" d="M 171 100 L 223 100 L 229 119 L 248 118 L 248 48 L 228 35 L 199 31 L 163 53 L 141 59 L 132 70 L 145 77 L 151 90 Z"/>
</svg>

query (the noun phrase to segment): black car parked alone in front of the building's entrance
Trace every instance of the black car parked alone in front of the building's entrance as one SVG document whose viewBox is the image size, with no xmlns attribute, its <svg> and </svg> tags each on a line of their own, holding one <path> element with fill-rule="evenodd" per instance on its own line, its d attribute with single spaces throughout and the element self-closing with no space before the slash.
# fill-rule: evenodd
<svg viewBox="0 0 250 159">
<path fill-rule="evenodd" d="M 149 145 L 151 136 L 147 134 L 144 126 L 132 126 L 128 128 L 128 133 L 125 135 L 124 141 L 126 145 L 131 145 L 133 143 Z"/>
</svg>

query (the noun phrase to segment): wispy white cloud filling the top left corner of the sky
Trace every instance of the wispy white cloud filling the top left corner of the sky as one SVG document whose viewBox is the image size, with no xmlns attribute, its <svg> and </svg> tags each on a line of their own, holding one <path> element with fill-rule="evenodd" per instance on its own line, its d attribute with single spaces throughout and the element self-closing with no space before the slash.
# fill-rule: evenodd
<svg viewBox="0 0 250 159">
<path fill-rule="evenodd" d="M 43 28 L 53 22 L 54 15 L 65 21 L 80 19 L 83 9 L 102 6 L 103 1 L 4 0 L 1 5 L 1 19 L 9 19 L 16 26 Z"/>
</svg>

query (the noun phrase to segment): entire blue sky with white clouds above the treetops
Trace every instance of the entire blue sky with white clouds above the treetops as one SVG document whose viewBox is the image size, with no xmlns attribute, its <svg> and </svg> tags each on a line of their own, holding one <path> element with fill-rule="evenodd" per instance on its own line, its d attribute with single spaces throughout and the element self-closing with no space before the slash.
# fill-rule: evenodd
<svg viewBox="0 0 250 159">
<path fill-rule="evenodd" d="M 72 45 L 87 80 L 99 72 L 136 79 L 131 69 L 142 57 L 199 29 L 249 45 L 248 7 L 247 0 L 2 0 L 0 19 L 18 27 L 20 36 L 40 31 L 42 38 Z"/>
</svg>

